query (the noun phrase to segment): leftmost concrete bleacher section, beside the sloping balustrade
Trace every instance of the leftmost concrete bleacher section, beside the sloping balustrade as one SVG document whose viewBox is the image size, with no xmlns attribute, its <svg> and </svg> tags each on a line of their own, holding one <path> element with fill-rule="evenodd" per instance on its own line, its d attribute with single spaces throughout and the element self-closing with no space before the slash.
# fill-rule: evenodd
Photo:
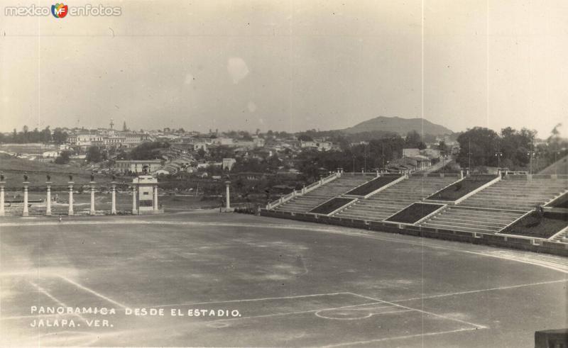
<svg viewBox="0 0 568 348">
<path fill-rule="evenodd" d="M 335 196 L 341 196 L 354 189 L 356 186 L 365 184 L 375 179 L 374 175 L 368 174 L 343 174 L 341 177 L 324 184 L 317 189 L 297 196 L 275 207 L 275 211 L 290 211 L 293 213 L 307 213 L 312 208 L 319 206 Z"/>
</svg>

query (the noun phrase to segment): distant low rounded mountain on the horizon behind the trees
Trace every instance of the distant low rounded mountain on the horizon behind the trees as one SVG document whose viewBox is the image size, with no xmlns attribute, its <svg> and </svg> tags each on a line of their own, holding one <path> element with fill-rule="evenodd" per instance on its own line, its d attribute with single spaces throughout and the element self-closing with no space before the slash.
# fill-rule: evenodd
<svg viewBox="0 0 568 348">
<path fill-rule="evenodd" d="M 410 130 L 416 130 L 418 133 L 422 133 L 422 125 L 425 134 L 431 135 L 444 135 L 452 134 L 452 130 L 445 128 L 443 125 L 437 125 L 430 122 L 429 120 L 423 120 L 422 118 L 400 118 L 400 117 L 384 117 L 378 116 L 376 118 L 371 118 L 371 120 L 366 120 L 354 125 L 351 128 L 345 128 L 343 131 L 346 133 L 361 133 L 361 132 L 371 132 L 373 130 L 382 130 L 385 132 L 398 133 L 400 135 L 406 135 Z"/>
</svg>

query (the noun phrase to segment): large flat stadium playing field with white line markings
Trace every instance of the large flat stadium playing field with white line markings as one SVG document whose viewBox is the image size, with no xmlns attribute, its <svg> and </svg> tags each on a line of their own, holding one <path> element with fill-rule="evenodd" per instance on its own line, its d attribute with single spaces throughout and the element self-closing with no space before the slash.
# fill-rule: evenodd
<svg viewBox="0 0 568 348">
<path fill-rule="evenodd" d="M 567 326 L 561 257 L 203 212 L 4 218 L 0 237 L 2 347 L 534 347 Z"/>
</svg>

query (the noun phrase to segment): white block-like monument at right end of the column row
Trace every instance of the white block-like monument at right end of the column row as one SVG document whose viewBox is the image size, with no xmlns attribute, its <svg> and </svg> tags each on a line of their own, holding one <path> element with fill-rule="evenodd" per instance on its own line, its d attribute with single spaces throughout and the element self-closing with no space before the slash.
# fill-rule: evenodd
<svg viewBox="0 0 568 348">
<path fill-rule="evenodd" d="M 163 213 L 158 206 L 158 179 L 141 175 L 132 180 L 132 213 L 135 215 Z"/>
</svg>

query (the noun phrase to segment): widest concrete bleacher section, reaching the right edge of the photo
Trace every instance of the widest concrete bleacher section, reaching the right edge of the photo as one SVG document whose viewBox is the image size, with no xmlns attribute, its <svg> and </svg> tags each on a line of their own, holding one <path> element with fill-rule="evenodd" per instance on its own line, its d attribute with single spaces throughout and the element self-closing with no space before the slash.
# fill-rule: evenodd
<svg viewBox="0 0 568 348">
<path fill-rule="evenodd" d="M 486 187 L 457 206 L 447 206 L 418 225 L 495 233 L 567 190 L 566 179 L 528 180 L 526 176 L 513 176 Z"/>
</svg>

